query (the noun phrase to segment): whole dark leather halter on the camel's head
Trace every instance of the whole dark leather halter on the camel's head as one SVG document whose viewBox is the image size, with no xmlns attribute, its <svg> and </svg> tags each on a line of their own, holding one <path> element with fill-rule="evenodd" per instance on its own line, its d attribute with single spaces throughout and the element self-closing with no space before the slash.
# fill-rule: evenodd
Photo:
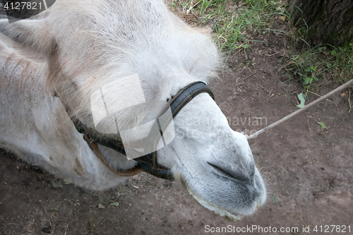
<svg viewBox="0 0 353 235">
<path fill-rule="evenodd" d="M 165 114 L 170 107 L 172 115 L 167 116 L 167 118 L 164 117 L 162 120 L 158 118 L 159 121 L 155 121 L 154 123 L 154 125 L 158 125 L 158 128 L 152 128 L 150 133 L 148 134 L 147 139 L 152 141 L 152 143 L 148 143 L 148 145 L 153 147 L 154 149 L 150 151 L 151 153 L 148 155 L 143 155 L 142 157 L 137 157 L 133 159 L 138 162 L 138 164 L 136 164 L 136 167 L 127 170 L 114 169 L 113 167 L 111 167 L 108 164 L 107 159 L 105 159 L 105 157 L 100 152 L 97 145 L 104 145 L 105 147 L 109 147 L 112 150 L 115 150 L 116 152 L 120 152 L 121 154 L 126 155 L 123 143 L 114 138 L 99 138 L 102 133 L 98 133 L 97 131 L 95 131 L 95 129 L 85 126 L 85 124 L 78 120 L 76 116 L 73 116 L 73 111 L 70 109 L 70 107 L 68 107 L 68 105 L 65 105 L 65 107 L 66 112 L 68 113 L 68 116 L 70 116 L 70 119 L 73 122 L 73 125 L 75 126 L 76 130 L 79 133 L 83 133 L 83 139 L 88 143 L 92 152 L 97 155 L 97 157 L 108 167 L 110 171 L 114 172 L 115 174 L 118 174 L 119 176 L 133 176 L 135 174 L 139 174 L 141 171 L 145 171 L 148 174 L 152 174 L 153 176 L 157 176 L 162 179 L 173 179 L 172 171 L 167 167 L 163 167 L 162 165 L 157 163 L 157 151 L 155 151 L 155 149 L 160 138 L 162 138 L 163 136 L 162 133 L 164 133 L 165 129 L 172 121 L 174 116 L 177 116 L 179 111 L 187 103 L 189 103 L 191 100 L 193 100 L 194 97 L 203 92 L 208 93 L 213 98 L 213 100 L 215 100 L 213 92 L 203 82 L 194 82 L 187 85 L 185 88 L 179 90 L 177 95 L 175 95 L 174 97 L 172 97 L 171 100 L 169 100 L 167 107 L 166 109 L 164 109 L 164 112 L 162 112 L 162 114 Z M 160 116 L 162 116 L 162 114 Z M 153 131 L 156 129 L 158 131 Z"/>
</svg>

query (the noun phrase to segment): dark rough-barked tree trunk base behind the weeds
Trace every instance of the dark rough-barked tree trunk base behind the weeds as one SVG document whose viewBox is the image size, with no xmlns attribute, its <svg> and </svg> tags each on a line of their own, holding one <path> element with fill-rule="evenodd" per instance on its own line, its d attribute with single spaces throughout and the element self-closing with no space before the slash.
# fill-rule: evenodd
<svg viewBox="0 0 353 235">
<path fill-rule="evenodd" d="M 353 42 L 352 0 L 292 0 L 289 12 L 294 28 L 304 35 L 308 30 L 306 42 L 311 45 Z"/>
</svg>

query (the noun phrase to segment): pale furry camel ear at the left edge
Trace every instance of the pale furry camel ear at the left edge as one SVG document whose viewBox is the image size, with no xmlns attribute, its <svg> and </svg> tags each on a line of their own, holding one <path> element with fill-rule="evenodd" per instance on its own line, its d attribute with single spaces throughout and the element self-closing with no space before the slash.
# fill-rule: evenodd
<svg viewBox="0 0 353 235">
<path fill-rule="evenodd" d="M 31 51 L 45 53 L 51 48 L 53 37 L 44 26 L 43 19 L 20 20 L 15 23 L 8 23 L 7 19 L 1 19 L 0 33 Z"/>
</svg>

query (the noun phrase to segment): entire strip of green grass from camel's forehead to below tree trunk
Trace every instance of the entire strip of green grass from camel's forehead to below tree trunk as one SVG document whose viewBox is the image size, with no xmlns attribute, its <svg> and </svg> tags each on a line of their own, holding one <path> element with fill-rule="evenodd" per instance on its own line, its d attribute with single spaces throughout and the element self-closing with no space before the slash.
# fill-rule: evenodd
<svg viewBox="0 0 353 235">
<path fill-rule="evenodd" d="M 296 28 L 282 1 L 269 0 L 171 0 L 179 11 L 196 16 L 198 26 L 213 28 L 215 42 L 227 56 L 248 49 L 251 38 L 267 32 L 282 33 L 290 38 L 292 47 L 285 53 L 287 76 L 303 85 L 304 91 L 320 87 L 326 80 L 346 81 L 353 78 L 353 42 L 345 47 L 317 45 L 306 42 L 307 26 Z M 276 18 L 289 20 L 287 31 L 275 30 Z M 299 45 L 301 45 L 299 47 Z M 299 49 L 298 49 L 299 48 Z M 283 61 L 282 61 L 283 62 Z"/>
</svg>

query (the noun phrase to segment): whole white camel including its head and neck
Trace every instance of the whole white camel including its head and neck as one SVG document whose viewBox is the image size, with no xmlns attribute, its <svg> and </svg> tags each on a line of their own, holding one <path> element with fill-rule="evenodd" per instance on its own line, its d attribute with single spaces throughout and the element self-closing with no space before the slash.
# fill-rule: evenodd
<svg viewBox="0 0 353 235">
<path fill-rule="evenodd" d="M 115 187 L 126 177 L 107 165 L 124 171 L 138 163 L 100 144 L 94 149 L 65 105 L 97 128 L 90 100 L 105 86 L 104 95 L 116 90 L 121 97 L 109 104 L 116 123 L 141 123 L 144 111 L 114 104 L 135 104 L 141 91 L 145 102 L 166 102 L 190 83 L 208 83 L 220 64 L 210 35 L 186 25 L 162 0 L 57 0 L 32 19 L 1 19 L 0 147 L 78 186 Z M 126 95 L 119 96 L 121 87 Z M 157 150 L 157 163 L 201 205 L 239 219 L 265 203 L 245 136 L 232 131 L 210 95 L 194 97 L 172 124 L 175 137 Z"/>
</svg>

